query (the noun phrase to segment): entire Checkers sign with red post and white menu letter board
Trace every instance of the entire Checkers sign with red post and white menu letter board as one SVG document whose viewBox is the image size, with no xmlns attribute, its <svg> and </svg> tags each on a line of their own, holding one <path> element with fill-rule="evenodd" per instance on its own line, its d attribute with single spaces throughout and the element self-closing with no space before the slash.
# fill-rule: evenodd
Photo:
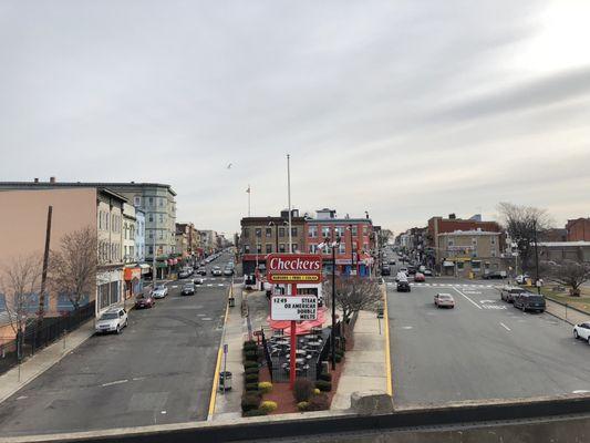
<svg viewBox="0 0 590 443">
<path fill-rule="evenodd" d="M 313 296 L 298 296 L 297 284 L 321 281 L 322 257 L 309 254 L 270 254 L 267 257 L 267 276 L 269 282 L 283 284 L 291 289 L 288 297 L 271 298 L 270 318 L 291 321 L 289 385 L 293 389 L 297 379 L 297 321 L 318 318 L 318 300 Z"/>
</svg>

